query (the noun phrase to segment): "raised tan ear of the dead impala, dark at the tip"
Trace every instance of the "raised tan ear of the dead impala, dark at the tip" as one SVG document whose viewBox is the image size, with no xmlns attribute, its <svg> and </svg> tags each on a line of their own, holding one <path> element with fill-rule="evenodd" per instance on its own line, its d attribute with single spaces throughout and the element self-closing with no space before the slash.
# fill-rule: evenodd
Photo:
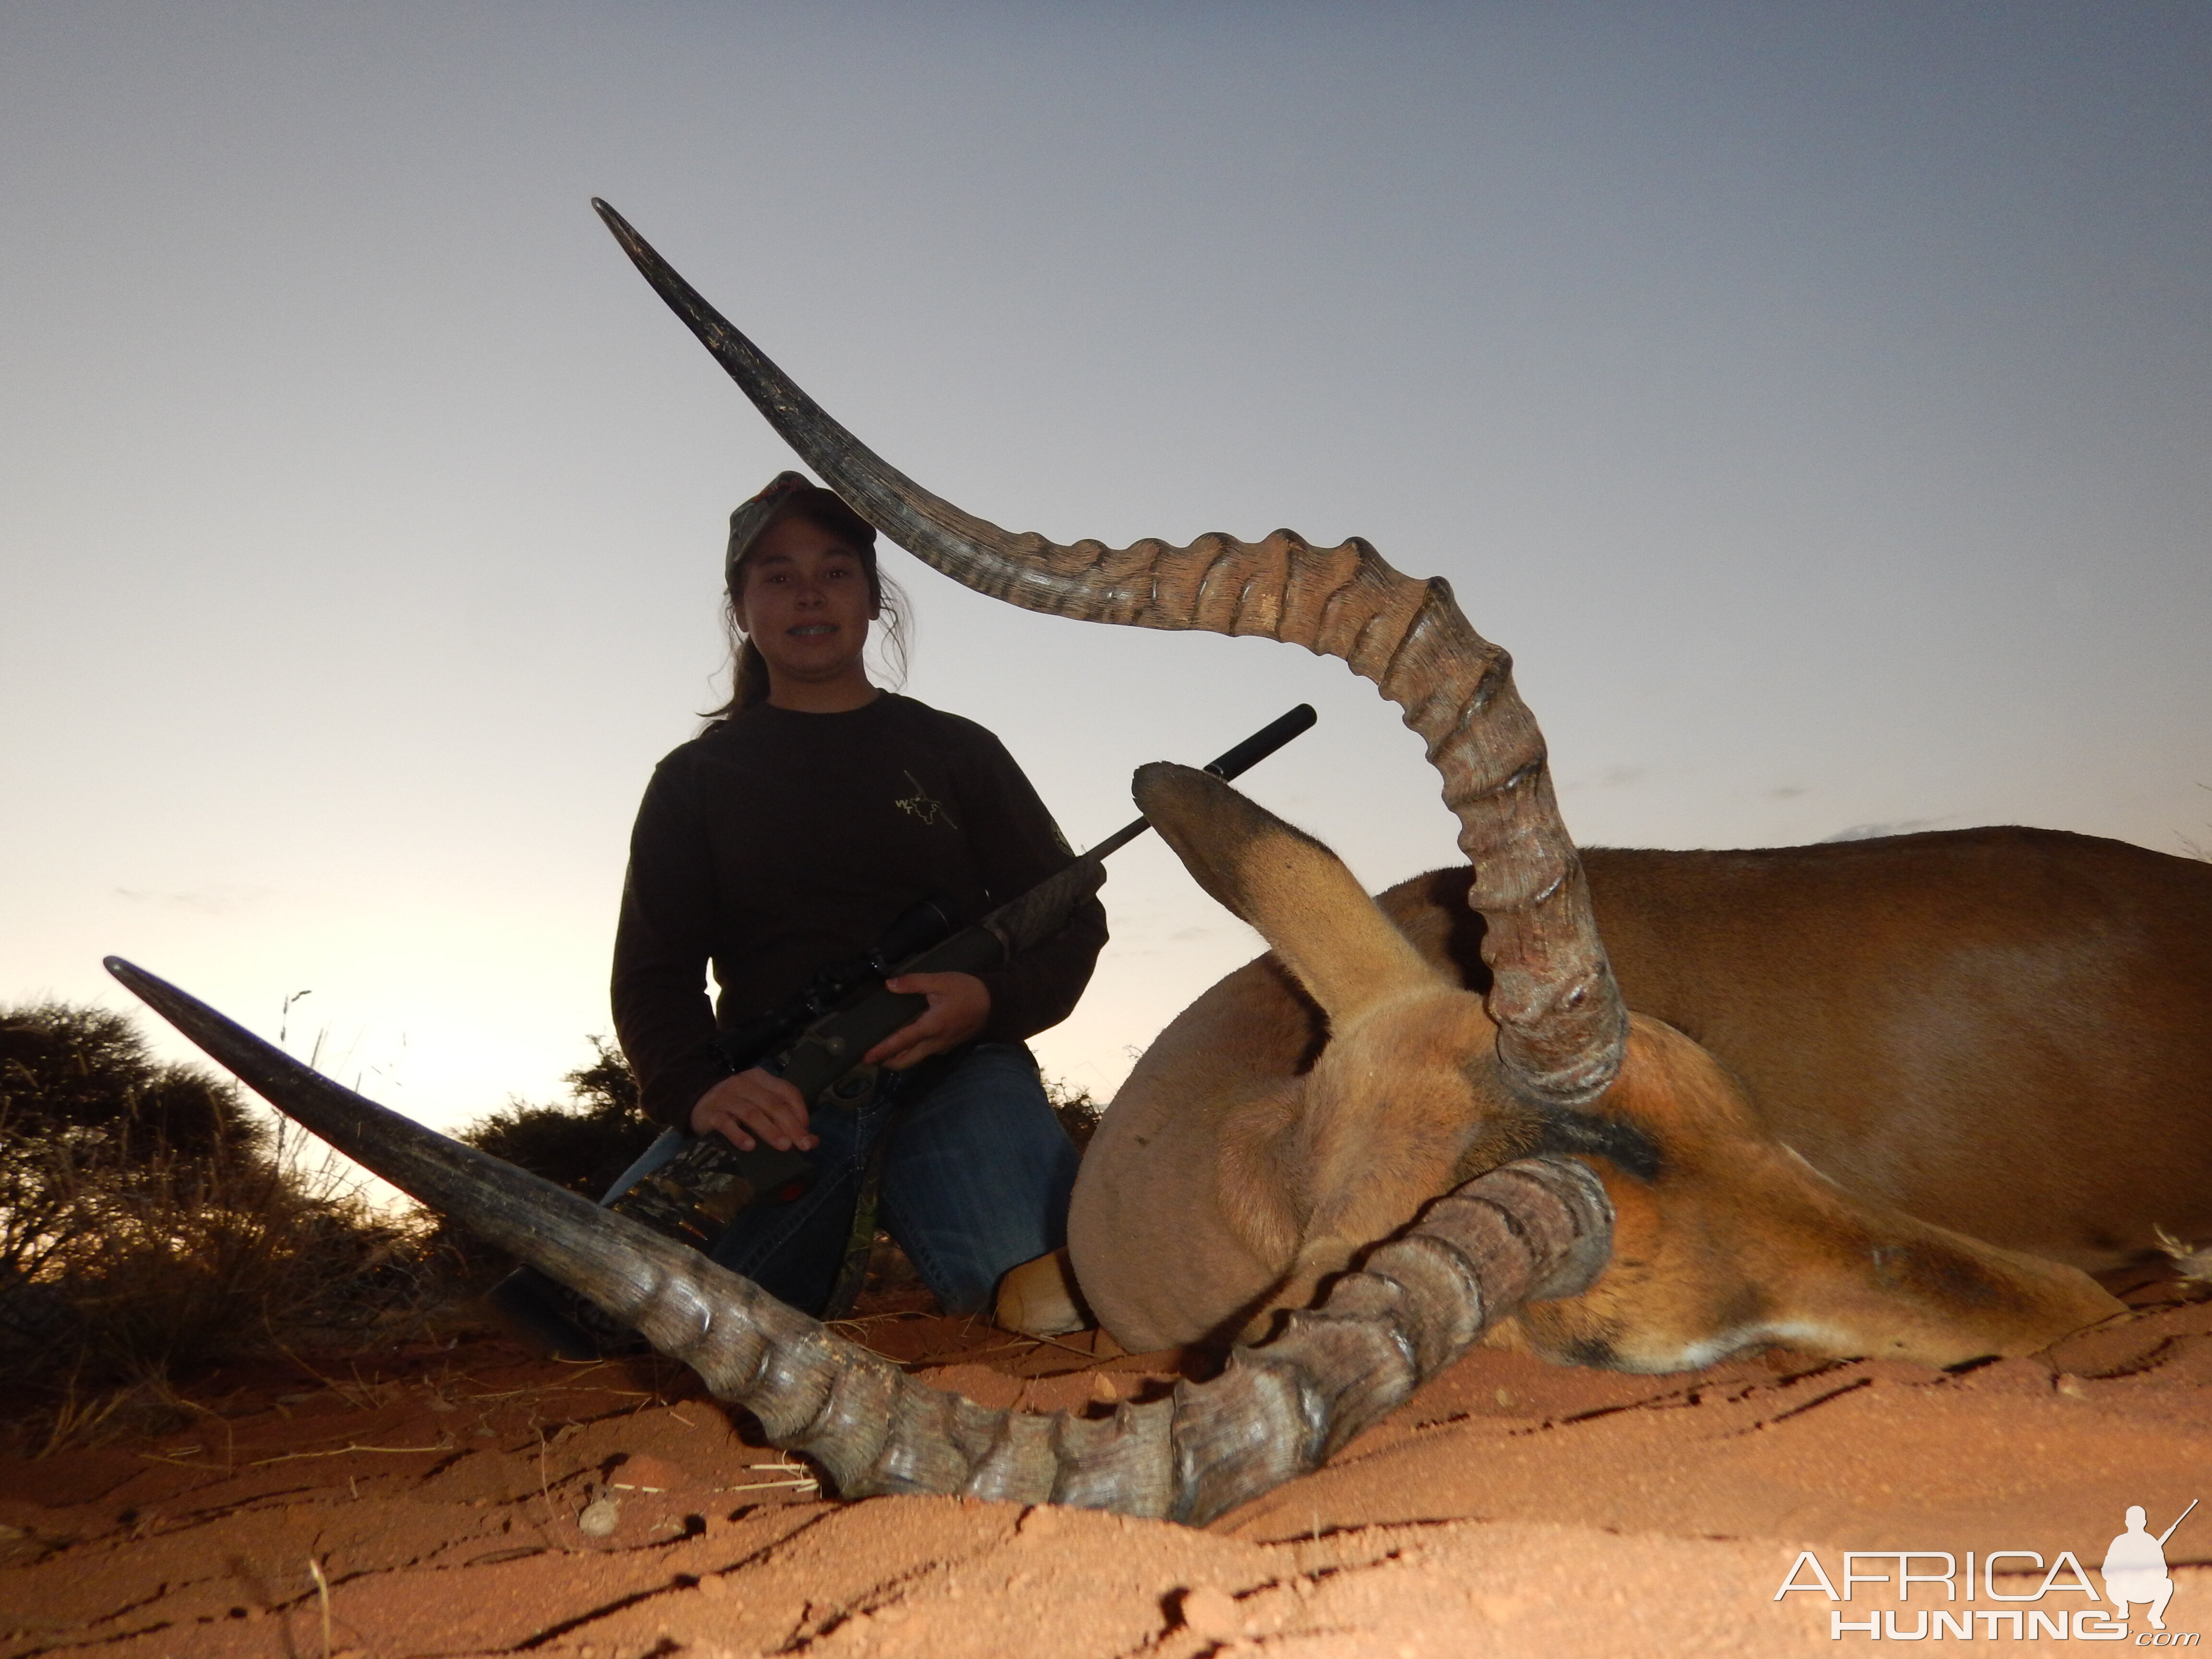
<svg viewBox="0 0 2212 1659">
<path fill-rule="evenodd" d="M 1137 768 L 1133 794 L 1183 869 L 1261 931 L 1332 1024 L 1407 991 L 1449 984 L 1376 909 L 1343 858 L 1212 772 L 1157 761 Z"/>
</svg>

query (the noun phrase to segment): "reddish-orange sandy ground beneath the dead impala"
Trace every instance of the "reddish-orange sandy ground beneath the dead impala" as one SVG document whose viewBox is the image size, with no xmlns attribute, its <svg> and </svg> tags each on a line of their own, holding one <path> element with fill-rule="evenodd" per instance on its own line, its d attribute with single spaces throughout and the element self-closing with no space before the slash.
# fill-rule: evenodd
<svg viewBox="0 0 2212 1659">
<path fill-rule="evenodd" d="M 1478 1352 L 1203 1531 L 830 1502 L 657 1360 L 458 1338 L 263 1365 L 188 1389 L 168 1433 L 0 1462 L 0 1657 L 1555 1659 L 1834 1652 L 1916 1628 L 1949 1652 L 2057 1630 L 2148 1648 L 2146 1610 L 2101 1624 L 2110 1604 L 2059 1557 L 2101 1590 L 2128 1504 L 2161 1531 L 2212 1498 L 2212 1303 L 2159 1283 L 2132 1301 L 2048 1356 L 1964 1374 L 1767 1354 L 1635 1378 Z M 1179 1363 L 925 1314 L 856 1334 L 942 1387 L 1048 1409 L 1106 1409 Z M 1845 1551 L 1913 1551 L 1938 1579 L 1949 1553 L 1955 1599 L 1860 1582 L 1832 1601 L 1816 1579 L 1840 1590 Z M 2033 1559 L 2000 1555 L 1969 1601 L 1969 1551 Z M 2168 1637 L 2212 1637 L 2212 1506 L 2168 1559 Z M 1851 1566 L 1893 1579 L 1898 1557 Z M 1776 1599 L 1792 1575 L 1814 1588 Z M 1832 1626 L 1885 1610 L 1878 1637 Z M 1931 1610 L 1953 1624 L 1916 1624 Z"/>
</svg>

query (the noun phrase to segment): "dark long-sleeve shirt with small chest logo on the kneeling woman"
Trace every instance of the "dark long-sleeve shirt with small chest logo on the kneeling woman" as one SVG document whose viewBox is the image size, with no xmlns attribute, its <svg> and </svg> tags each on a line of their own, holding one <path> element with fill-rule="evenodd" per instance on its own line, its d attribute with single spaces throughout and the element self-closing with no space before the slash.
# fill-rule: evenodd
<svg viewBox="0 0 2212 1659">
<path fill-rule="evenodd" d="M 653 772 L 630 832 L 615 933 L 615 1035 L 646 1115 L 688 1126 L 730 1075 L 719 1024 L 863 956 L 922 898 L 958 922 L 1035 887 L 1071 858 L 1037 792 L 982 726 L 911 697 L 843 714 L 754 706 Z M 1084 905 L 991 991 L 982 1042 L 1060 1024 L 1091 982 L 1106 911 Z M 706 998 L 712 962 L 721 998 Z"/>
</svg>

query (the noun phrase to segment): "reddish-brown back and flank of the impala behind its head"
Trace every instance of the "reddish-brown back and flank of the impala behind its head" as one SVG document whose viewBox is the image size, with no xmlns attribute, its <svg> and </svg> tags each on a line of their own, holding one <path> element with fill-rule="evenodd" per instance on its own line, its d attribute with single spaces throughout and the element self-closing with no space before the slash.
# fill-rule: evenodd
<svg viewBox="0 0 2212 1659">
<path fill-rule="evenodd" d="M 2212 1239 L 2212 865 L 1955 830 L 1584 867 L 1628 1006 L 1845 1190 L 2088 1270 Z M 1453 887 L 1385 905 L 1464 967 Z"/>
</svg>

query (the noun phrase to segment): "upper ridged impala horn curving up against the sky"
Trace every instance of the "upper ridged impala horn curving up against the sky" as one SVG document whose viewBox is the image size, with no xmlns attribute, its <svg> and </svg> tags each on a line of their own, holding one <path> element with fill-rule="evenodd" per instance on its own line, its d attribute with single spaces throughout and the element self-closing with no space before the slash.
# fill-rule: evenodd
<svg viewBox="0 0 2212 1659">
<path fill-rule="evenodd" d="M 1265 635 L 1343 657 L 1405 710 L 1444 779 L 1467 902 L 1486 922 L 1489 1013 L 1504 1079 L 1524 1097 L 1582 1106 L 1604 1093 L 1628 1044 L 1628 1013 L 1590 916 L 1575 843 L 1559 818 L 1544 737 L 1513 690 L 1513 659 L 1478 635 L 1442 577 L 1400 575 L 1360 538 L 1316 549 L 1292 531 L 1265 542 L 1201 535 L 1062 546 L 1011 533 L 938 500 L 832 420 L 597 197 L 608 230 L 699 343 L 801 460 L 869 524 L 956 582 L 1082 622 Z"/>
</svg>

